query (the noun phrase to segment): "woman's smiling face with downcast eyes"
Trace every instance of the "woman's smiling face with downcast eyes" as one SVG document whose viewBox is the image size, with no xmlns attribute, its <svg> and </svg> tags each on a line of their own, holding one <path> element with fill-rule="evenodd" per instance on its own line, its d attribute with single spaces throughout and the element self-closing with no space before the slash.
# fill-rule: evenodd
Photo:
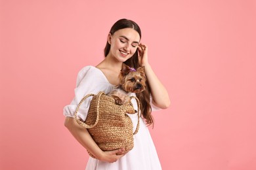
<svg viewBox="0 0 256 170">
<path fill-rule="evenodd" d="M 140 35 L 135 29 L 119 29 L 113 35 L 108 35 L 109 55 L 120 62 L 124 62 L 135 54 L 139 42 Z"/>
</svg>

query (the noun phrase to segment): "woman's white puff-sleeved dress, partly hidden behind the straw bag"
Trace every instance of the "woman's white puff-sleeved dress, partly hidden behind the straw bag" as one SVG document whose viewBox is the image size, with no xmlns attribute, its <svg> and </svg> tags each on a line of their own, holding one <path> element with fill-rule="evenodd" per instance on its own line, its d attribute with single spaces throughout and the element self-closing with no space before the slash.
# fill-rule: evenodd
<svg viewBox="0 0 256 170">
<path fill-rule="evenodd" d="M 77 83 L 75 88 L 75 97 L 70 105 L 66 105 L 64 107 L 64 116 L 70 116 L 74 118 L 74 112 L 77 108 L 77 104 L 81 99 L 89 94 L 89 93 L 98 93 L 103 91 L 108 93 L 114 88 L 114 85 L 108 82 L 108 79 L 100 71 L 100 69 L 93 66 L 86 66 L 79 71 L 77 76 Z M 135 95 L 135 94 L 133 94 Z M 81 109 L 77 113 L 77 116 L 81 120 L 85 120 L 87 116 L 87 112 L 89 110 L 89 101 L 85 100 L 85 102 L 81 105 Z M 132 101 L 133 106 L 137 109 L 136 101 Z M 154 105 L 152 105 L 152 110 L 157 110 Z M 133 121 L 133 130 L 137 126 L 137 114 L 128 114 Z M 150 136 L 150 132 L 148 131 L 148 127 L 143 122 L 142 118 L 140 118 L 140 127 L 139 132 L 134 135 L 134 147 L 131 151 L 129 151 L 125 156 L 121 157 L 114 163 L 107 163 L 104 161 L 99 161 L 94 158 L 89 158 L 87 162 L 88 170 L 94 169 L 109 169 L 109 170 L 158 170 L 161 169 L 160 160 L 158 159 L 158 154 L 156 152 L 156 148 Z"/>
</svg>

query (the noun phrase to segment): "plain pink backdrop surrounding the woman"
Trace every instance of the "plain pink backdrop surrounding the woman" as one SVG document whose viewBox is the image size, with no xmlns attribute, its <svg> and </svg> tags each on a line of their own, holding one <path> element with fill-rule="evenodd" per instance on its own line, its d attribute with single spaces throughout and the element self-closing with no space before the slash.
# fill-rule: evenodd
<svg viewBox="0 0 256 170">
<path fill-rule="evenodd" d="M 171 97 L 150 128 L 163 169 L 256 169 L 255 1 L 2 0 L 0 14 L 0 169 L 85 169 L 62 109 L 120 18 Z"/>
</svg>

